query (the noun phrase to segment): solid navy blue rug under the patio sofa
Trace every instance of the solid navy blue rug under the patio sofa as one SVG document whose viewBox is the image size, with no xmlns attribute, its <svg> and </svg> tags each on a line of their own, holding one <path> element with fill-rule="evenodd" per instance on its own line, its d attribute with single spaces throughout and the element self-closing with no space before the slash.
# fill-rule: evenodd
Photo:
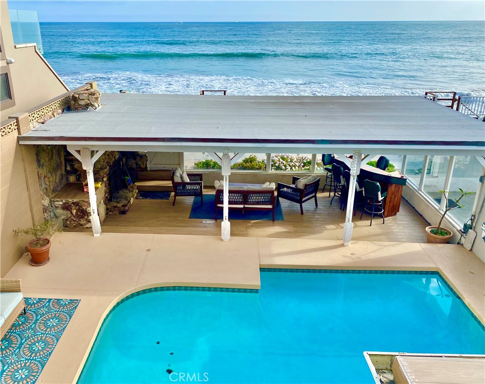
<svg viewBox="0 0 485 384">
<path fill-rule="evenodd" d="M 194 197 L 192 203 L 192 210 L 190 211 L 189 219 L 214 219 L 215 218 L 215 194 L 205 194 L 204 204 L 201 206 L 201 198 L 199 196 Z M 217 212 L 217 219 L 223 219 L 223 211 Z M 242 211 L 229 210 L 229 220 L 273 220 L 272 211 Z M 283 220 L 283 212 L 281 211 L 281 205 L 275 208 L 275 221 Z"/>
</svg>

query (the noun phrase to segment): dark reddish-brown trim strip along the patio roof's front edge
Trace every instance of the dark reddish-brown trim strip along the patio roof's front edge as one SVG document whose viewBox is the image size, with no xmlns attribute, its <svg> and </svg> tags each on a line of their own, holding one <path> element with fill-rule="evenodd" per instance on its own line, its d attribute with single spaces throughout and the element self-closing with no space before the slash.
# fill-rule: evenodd
<svg viewBox="0 0 485 384">
<path fill-rule="evenodd" d="M 430 145 L 430 146 L 466 146 L 485 147 L 485 141 L 420 141 L 420 140 L 314 140 L 314 139 L 235 139 L 235 138 L 199 138 L 199 137 L 95 137 L 95 136 L 19 136 L 19 141 L 53 141 L 53 142 L 106 142 L 113 143 L 233 143 L 233 144 L 310 144 L 310 145 Z"/>
</svg>

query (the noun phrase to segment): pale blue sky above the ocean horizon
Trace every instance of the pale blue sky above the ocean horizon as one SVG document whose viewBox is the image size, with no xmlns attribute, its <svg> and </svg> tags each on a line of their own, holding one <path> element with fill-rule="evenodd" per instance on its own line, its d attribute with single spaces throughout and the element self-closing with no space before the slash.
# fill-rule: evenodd
<svg viewBox="0 0 485 384">
<path fill-rule="evenodd" d="M 485 1 L 8 1 L 42 21 L 484 20 Z"/>
</svg>

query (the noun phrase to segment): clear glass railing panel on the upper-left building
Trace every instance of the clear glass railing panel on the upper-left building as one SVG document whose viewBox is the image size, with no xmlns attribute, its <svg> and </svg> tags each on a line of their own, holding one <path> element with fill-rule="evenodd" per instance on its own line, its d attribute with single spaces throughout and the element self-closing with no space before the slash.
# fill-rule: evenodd
<svg viewBox="0 0 485 384">
<path fill-rule="evenodd" d="M 37 50 L 43 53 L 42 38 L 37 11 L 9 10 L 14 44 L 37 44 Z"/>
</svg>

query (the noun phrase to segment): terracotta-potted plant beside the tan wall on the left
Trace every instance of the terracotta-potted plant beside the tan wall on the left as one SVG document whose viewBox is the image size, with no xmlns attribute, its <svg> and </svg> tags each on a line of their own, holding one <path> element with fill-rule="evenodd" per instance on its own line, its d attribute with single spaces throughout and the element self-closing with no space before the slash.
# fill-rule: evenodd
<svg viewBox="0 0 485 384">
<path fill-rule="evenodd" d="M 33 266 L 41 266 L 49 261 L 51 241 L 44 236 L 56 232 L 54 226 L 54 220 L 45 220 L 42 223 L 34 223 L 34 226 L 30 228 L 14 230 L 17 236 L 24 233 L 34 237 L 34 240 L 29 241 L 25 247 L 32 256 L 30 264 Z"/>
</svg>

